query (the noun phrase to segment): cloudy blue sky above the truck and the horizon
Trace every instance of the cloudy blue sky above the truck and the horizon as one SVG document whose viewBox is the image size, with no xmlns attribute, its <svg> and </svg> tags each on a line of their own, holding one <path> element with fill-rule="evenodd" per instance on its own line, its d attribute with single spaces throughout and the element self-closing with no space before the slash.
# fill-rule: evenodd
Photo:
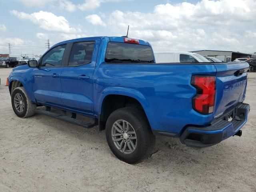
<svg viewBox="0 0 256 192">
<path fill-rule="evenodd" d="M 150 42 L 154 51 L 256 52 L 256 0 L 0 0 L 0 53 L 43 54 L 88 36 Z"/>
</svg>

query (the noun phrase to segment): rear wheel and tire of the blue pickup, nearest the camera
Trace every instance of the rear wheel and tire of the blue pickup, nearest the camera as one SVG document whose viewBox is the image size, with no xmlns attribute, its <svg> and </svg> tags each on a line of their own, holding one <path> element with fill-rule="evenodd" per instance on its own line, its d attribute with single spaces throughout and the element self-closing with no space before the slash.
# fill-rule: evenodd
<svg viewBox="0 0 256 192">
<path fill-rule="evenodd" d="M 136 107 L 120 108 L 110 114 L 106 139 L 114 155 L 127 163 L 147 158 L 155 144 L 146 115 Z"/>
</svg>

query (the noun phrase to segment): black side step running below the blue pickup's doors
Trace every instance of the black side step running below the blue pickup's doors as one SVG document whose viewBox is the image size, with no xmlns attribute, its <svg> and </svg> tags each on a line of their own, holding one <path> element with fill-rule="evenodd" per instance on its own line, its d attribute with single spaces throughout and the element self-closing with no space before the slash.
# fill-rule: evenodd
<svg viewBox="0 0 256 192">
<path fill-rule="evenodd" d="M 64 120 L 66 122 L 70 122 L 70 123 L 82 126 L 84 128 L 92 128 L 92 127 L 98 125 L 98 121 L 96 119 L 94 119 L 94 123 L 86 123 L 86 122 L 77 120 L 75 118 L 71 118 L 71 117 L 68 117 L 68 116 L 56 114 L 56 113 L 51 112 L 49 110 L 35 109 L 34 112 L 39 113 L 39 114 L 48 115 L 48 116 L 54 117 L 56 119 Z"/>
</svg>

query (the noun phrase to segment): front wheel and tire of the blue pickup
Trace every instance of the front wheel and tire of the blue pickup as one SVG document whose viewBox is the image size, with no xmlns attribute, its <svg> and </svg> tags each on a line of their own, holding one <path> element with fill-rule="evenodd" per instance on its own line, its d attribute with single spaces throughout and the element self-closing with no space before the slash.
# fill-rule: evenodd
<svg viewBox="0 0 256 192">
<path fill-rule="evenodd" d="M 28 98 L 24 87 L 17 87 L 12 92 L 12 109 L 14 113 L 21 117 L 26 118 L 34 115 L 36 104 Z"/>
</svg>

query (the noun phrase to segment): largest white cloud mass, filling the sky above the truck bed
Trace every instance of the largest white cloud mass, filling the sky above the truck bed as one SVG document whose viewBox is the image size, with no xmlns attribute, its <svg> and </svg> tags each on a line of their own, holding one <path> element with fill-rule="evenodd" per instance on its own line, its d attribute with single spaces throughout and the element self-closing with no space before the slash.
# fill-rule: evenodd
<svg viewBox="0 0 256 192">
<path fill-rule="evenodd" d="M 106 24 L 98 35 L 128 36 L 149 41 L 158 51 L 192 51 L 198 49 L 255 52 L 255 0 L 201 0 L 196 4 L 160 4 L 152 12 L 115 10 L 104 17 L 86 20 Z M 250 29 L 246 32 L 246 29 Z M 253 38 L 254 37 L 254 38 Z M 254 42 L 254 43 L 252 43 Z"/>
</svg>

